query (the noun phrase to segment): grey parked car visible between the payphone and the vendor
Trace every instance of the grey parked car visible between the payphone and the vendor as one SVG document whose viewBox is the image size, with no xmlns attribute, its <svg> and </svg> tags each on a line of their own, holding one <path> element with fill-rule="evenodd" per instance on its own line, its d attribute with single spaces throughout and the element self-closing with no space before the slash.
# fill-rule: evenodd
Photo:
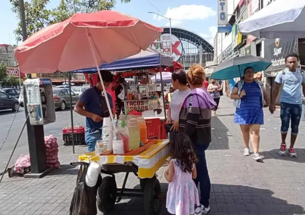
<svg viewBox="0 0 305 215">
<path fill-rule="evenodd" d="M 73 91 L 72 94 L 72 105 L 75 105 L 78 101 L 79 96 L 76 95 Z M 53 98 L 56 109 L 64 111 L 67 106 L 71 105 L 70 102 L 70 91 L 69 89 L 62 88 L 53 88 Z"/>
</svg>

